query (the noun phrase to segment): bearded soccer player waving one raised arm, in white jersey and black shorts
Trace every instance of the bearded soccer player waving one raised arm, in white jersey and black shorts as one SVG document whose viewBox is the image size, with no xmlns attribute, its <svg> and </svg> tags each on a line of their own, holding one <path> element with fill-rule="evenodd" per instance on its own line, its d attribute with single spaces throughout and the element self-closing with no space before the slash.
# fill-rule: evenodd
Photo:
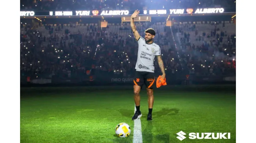
<svg viewBox="0 0 256 143">
<path fill-rule="evenodd" d="M 152 120 L 152 109 L 154 103 L 154 95 L 153 95 L 153 84 L 155 82 L 154 76 L 154 58 L 157 56 L 158 65 L 161 68 L 163 73 L 162 78 L 165 78 L 165 70 L 163 60 L 161 58 L 161 49 L 160 47 L 153 42 L 153 39 L 156 35 L 154 29 L 149 28 L 145 31 L 145 39 L 141 37 L 136 30 L 136 26 L 134 24 L 134 18 L 138 17 L 139 11 L 136 10 L 131 15 L 131 29 L 135 36 L 136 41 L 138 42 L 138 57 L 137 63 L 135 66 L 136 73 L 134 77 L 134 101 L 136 112 L 132 117 L 132 120 L 139 119 L 141 117 L 140 112 L 140 89 L 143 84 L 145 84 L 148 95 L 148 115 L 147 120 Z"/>
</svg>

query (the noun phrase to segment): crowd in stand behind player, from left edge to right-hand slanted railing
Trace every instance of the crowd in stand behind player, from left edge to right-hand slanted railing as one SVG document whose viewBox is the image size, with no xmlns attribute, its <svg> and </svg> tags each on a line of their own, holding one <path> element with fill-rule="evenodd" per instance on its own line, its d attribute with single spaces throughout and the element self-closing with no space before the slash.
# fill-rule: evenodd
<svg viewBox="0 0 256 143">
<path fill-rule="evenodd" d="M 37 29 L 31 29 L 29 24 L 21 23 L 21 73 L 34 76 L 75 74 L 85 73 L 92 68 L 113 74 L 131 73 L 135 70 L 138 44 L 130 27 L 125 23 L 123 25 L 119 25 L 119 30 L 127 30 L 130 35 L 125 36 L 111 31 L 109 26 L 101 30 L 96 24 L 88 26 L 45 24 Z M 144 28 L 155 25 L 151 22 L 143 23 L 137 26 L 137 30 L 144 37 Z M 72 28 L 75 27 L 84 27 L 86 31 L 73 31 Z M 162 47 L 166 70 L 173 70 L 172 73 L 181 72 L 175 47 L 170 45 L 170 33 L 163 29 L 155 30 L 159 33 L 155 42 Z M 155 65 L 155 70 L 161 71 L 157 59 Z"/>
</svg>

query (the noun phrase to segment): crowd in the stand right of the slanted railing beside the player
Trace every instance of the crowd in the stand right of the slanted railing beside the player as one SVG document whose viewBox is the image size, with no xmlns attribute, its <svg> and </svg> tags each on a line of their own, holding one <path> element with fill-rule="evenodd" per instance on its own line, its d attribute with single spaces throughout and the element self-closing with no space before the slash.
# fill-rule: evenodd
<svg viewBox="0 0 256 143">
<path fill-rule="evenodd" d="M 174 31 L 181 59 L 191 74 L 222 75 L 236 72 L 234 23 L 177 24 Z"/>
</svg>

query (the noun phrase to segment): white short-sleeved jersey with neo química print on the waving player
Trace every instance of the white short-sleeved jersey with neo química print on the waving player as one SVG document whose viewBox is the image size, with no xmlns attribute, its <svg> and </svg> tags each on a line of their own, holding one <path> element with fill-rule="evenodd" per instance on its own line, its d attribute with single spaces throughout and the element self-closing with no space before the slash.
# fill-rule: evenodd
<svg viewBox="0 0 256 143">
<path fill-rule="evenodd" d="M 139 44 L 139 48 L 137 63 L 135 66 L 136 71 L 154 73 L 154 59 L 155 56 L 161 55 L 160 47 L 155 43 L 147 44 L 145 39 L 141 36 L 137 42 Z"/>
</svg>

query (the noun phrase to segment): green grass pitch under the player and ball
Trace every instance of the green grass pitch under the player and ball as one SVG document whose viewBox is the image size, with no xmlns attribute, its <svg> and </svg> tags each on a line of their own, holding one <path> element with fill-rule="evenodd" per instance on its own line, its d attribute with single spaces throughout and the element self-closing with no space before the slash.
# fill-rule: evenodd
<svg viewBox="0 0 256 143">
<path fill-rule="evenodd" d="M 175 87 L 174 87 L 175 88 Z M 215 90 L 215 91 L 214 91 Z M 234 89 L 213 91 L 156 89 L 153 121 L 147 121 L 147 95 L 141 91 L 141 129 L 144 143 L 235 143 Z M 130 89 L 24 88 L 20 97 L 22 143 L 132 143 L 134 100 Z M 119 138 L 118 123 L 126 122 L 131 135 Z M 231 139 L 180 141 L 176 133 L 230 132 Z"/>
</svg>

